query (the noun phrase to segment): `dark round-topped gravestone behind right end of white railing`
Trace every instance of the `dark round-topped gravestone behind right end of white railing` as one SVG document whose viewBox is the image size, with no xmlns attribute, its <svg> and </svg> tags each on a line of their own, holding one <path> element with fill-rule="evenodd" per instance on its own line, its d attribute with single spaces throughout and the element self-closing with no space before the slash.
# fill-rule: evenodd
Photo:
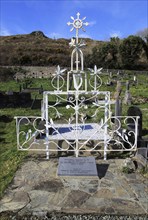
<svg viewBox="0 0 148 220">
<path fill-rule="evenodd" d="M 138 137 L 142 137 L 142 112 L 137 106 L 131 106 L 129 107 L 127 111 L 128 116 L 139 116 L 138 120 Z M 135 130 L 135 124 L 132 118 L 128 118 L 128 130 L 134 131 Z"/>
</svg>

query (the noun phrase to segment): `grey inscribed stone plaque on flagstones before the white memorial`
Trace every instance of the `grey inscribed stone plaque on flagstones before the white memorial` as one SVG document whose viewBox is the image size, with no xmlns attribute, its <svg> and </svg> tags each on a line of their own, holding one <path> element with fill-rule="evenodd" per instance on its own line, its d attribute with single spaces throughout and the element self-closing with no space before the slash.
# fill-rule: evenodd
<svg viewBox="0 0 148 220">
<path fill-rule="evenodd" d="M 59 176 L 98 176 L 94 157 L 60 157 Z"/>
</svg>

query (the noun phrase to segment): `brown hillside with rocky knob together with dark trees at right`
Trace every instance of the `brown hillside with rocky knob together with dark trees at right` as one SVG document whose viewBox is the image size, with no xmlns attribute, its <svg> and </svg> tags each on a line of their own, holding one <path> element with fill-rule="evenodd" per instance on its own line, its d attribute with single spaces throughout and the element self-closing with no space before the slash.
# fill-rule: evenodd
<svg viewBox="0 0 148 220">
<path fill-rule="evenodd" d="M 148 42 L 139 36 L 108 41 L 83 39 L 85 67 L 148 70 Z M 51 39 L 42 31 L 0 37 L 1 66 L 70 66 L 70 39 Z"/>
</svg>

